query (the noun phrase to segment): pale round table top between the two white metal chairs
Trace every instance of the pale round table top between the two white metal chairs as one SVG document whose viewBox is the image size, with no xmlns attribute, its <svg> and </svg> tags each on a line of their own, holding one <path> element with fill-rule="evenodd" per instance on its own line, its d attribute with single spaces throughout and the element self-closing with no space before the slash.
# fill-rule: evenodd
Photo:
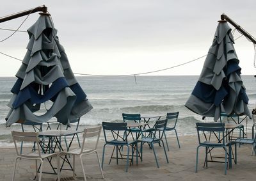
<svg viewBox="0 0 256 181">
<path fill-rule="evenodd" d="M 70 136 L 73 134 L 84 132 L 83 130 L 60 130 L 51 129 L 39 132 L 39 136 Z"/>
</svg>

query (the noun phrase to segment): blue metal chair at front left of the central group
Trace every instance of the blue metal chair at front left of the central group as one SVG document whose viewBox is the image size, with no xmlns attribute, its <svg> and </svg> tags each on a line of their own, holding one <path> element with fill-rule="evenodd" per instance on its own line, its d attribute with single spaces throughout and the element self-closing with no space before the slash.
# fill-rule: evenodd
<svg viewBox="0 0 256 181">
<path fill-rule="evenodd" d="M 104 132 L 104 138 L 106 143 L 103 146 L 103 153 L 102 153 L 102 169 L 104 164 L 104 153 L 106 145 L 114 146 L 113 152 L 111 155 L 111 159 L 116 159 L 116 164 L 118 164 L 118 159 L 125 159 L 122 156 L 124 154 L 121 153 L 121 149 L 123 146 L 127 146 L 127 154 L 126 155 L 126 169 L 128 171 L 128 164 L 129 164 L 129 154 L 130 154 L 130 146 L 132 148 L 132 155 L 131 155 L 131 162 L 133 163 L 133 156 L 134 151 L 136 150 L 136 164 L 138 164 L 138 143 L 137 140 L 127 141 L 127 123 L 108 123 L 102 122 L 102 129 Z M 109 138 L 111 136 L 111 138 Z M 136 146 L 136 147 L 134 147 Z M 113 153 L 116 150 L 116 157 L 113 157 Z M 120 154 L 120 158 L 118 158 L 118 153 Z M 111 162 L 109 161 L 109 164 Z"/>
</svg>

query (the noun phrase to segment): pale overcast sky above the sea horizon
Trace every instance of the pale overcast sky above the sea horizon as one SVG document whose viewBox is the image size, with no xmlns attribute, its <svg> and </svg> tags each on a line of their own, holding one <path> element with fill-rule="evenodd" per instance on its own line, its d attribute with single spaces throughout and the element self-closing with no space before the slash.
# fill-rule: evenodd
<svg viewBox="0 0 256 181">
<path fill-rule="evenodd" d="M 43 4 L 73 72 L 79 74 L 140 74 L 205 56 L 222 13 L 256 36 L 255 0 L 9 0 L 1 3 L 0 17 Z M 26 31 L 38 17 L 33 13 L 2 22 L 0 28 L 17 29 L 26 19 L 19 29 Z M 11 34 L 0 30 L 0 41 Z M 239 36 L 235 31 L 234 38 Z M 28 33 L 17 32 L 0 42 L 0 52 L 23 59 L 28 41 Z M 235 49 L 242 74 L 256 74 L 253 43 L 242 36 Z M 204 60 L 145 75 L 200 75 Z M 0 62 L 0 76 L 15 76 L 21 65 L 3 54 Z"/>
</svg>

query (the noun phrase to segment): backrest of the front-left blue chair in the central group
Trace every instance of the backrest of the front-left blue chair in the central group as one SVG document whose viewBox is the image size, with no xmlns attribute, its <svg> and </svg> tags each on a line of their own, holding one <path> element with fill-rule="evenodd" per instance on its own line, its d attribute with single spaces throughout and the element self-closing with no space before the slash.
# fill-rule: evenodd
<svg viewBox="0 0 256 181">
<path fill-rule="evenodd" d="M 127 123 L 102 122 L 102 129 L 106 143 L 110 142 L 108 136 L 111 141 L 115 139 L 127 142 Z"/>
</svg>

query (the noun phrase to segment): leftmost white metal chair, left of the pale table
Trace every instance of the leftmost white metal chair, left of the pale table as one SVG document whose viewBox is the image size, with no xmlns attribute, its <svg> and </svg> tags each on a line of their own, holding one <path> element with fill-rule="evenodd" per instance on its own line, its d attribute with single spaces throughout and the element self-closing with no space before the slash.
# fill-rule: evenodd
<svg viewBox="0 0 256 181">
<path fill-rule="evenodd" d="M 16 153 L 17 157 L 15 159 L 15 165 L 14 165 L 14 171 L 13 171 L 13 177 L 12 180 L 15 178 L 15 171 L 16 171 L 16 166 L 17 166 L 17 160 L 18 159 L 29 159 L 29 160 L 35 160 L 36 161 L 36 178 L 38 178 L 38 166 L 37 166 L 37 161 L 40 160 L 41 165 L 40 165 L 40 174 L 39 174 L 39 181 L 42 178 L 42 169 L 43 169 L 43 163 L 44 159 L 49 158 L 49 157 L 56 157 L 57 158 L 57 174 L 58 178 L 57 180 L 60 180 L 60 164 L 58 161 L 58 154 L 57 153 L 41 153 L 40 152 L 40 145 L 39 145 L 39 138 L 38 138 L 38 132 L 17 132 L 17 131 L 12 131 L 12 137 L 13 137 L 13 142 L 16 148 Z M 31 152 L 28 153 L 20 153 L 18 151 L 18 141 L 20 143 L 31 143 L 32 146 L 36 146 L 35 150 L 32 150 Z M 35 144 L 34 144 L 35 143 Z"/>
</svg>

